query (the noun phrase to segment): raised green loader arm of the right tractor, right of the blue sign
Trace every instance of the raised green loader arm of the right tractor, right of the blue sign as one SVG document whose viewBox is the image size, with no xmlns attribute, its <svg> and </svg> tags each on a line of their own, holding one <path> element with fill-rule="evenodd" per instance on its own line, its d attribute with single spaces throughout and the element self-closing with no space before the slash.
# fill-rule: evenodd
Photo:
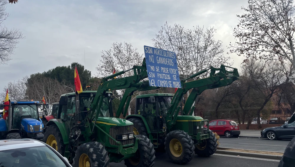
<svg viewBox="0 0 295 167">
<path fill-rule="evenodd" d="M 187 77 L 181 80 L 181 89 L 177 89 L 176 93 L 174 94 L 172 98 L 171 104 L 167 112 L 166 122 L 169 126 L 172 126 L 173 124 L 175 124 L 178 112 L 180 110 L 180 106 L 178 106 L 178 104 L 182 100 L 183 95 L 188 90 L 194 88 L 191 91 L 184 105 L 184 108 L 183 108 L 184 115 L 187 115 L 189 110 L 192 108 L 192 105 L 194 101 L 196 100 L 196 97 L 199 94 L 201 94 L 201 92 L 203 92 L 204 90 L 227 86 L 227 85 L 230 85 L 235 80 L 240 79 L 236 68 L 228 67 L 233 69 L 233 71 L 227 71 L 225 67 L 228 67 L 228 66 L 221 65 L 220 68 L 214 68 L 210 66 L 209 68 L 205 70 L 197 72 L 194 75 L 191 75 L 190 77 Z M 186 80 L 195 78 L 209 70 L 211 70 L 209 77 L 185 82 Z M 219 71 L 219 72 L 216 73 L 216 71 Z M 194 108 L 192 108 L 192 111 L 193 109 Z M 192 112 L 190 114 L 192 114 Z"/>
</svg>

